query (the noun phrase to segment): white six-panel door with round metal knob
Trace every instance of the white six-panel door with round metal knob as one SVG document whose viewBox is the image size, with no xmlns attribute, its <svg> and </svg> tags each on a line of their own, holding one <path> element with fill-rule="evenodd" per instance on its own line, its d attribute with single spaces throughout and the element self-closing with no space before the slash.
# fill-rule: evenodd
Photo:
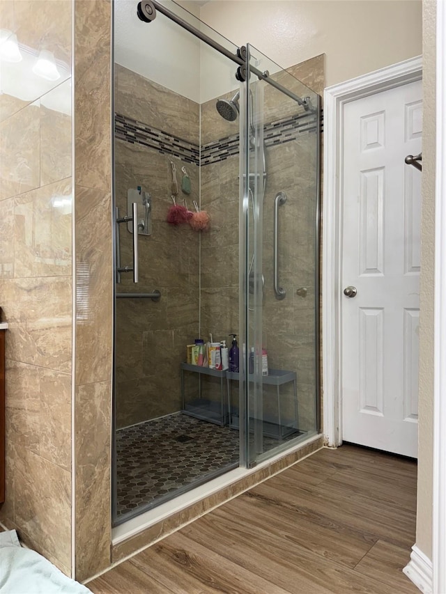
<svg viewBox="0 0 446 594">
<path fill-rule="evenodd" d="M 342 439 L 417 457 L 422 83 L 344 107 Z"/>
</svg>

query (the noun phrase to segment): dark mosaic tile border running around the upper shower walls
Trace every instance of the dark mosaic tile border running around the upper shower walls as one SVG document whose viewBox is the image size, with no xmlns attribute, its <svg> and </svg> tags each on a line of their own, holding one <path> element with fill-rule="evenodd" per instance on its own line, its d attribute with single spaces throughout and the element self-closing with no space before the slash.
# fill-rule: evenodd
<svg viewBox="0 0 446 594">
<path fill-rule="evenodd" d="M 299 134 L 316 131 L 314 114 L 299 114 L 284 120 L 277 120 L 264 127 L 265 146 L 275 146 L 297 139 Z M 141 144 L 157 150 L 158 153 L 172 155 L 186 163 L 208 165 L 224 161 L 228 157 L 238 155 L 239 134 L 209 142 L 200 147 L 147 124 L 115 114 L 115 136 L 117 139 L 132 144 Z"/>
</svg>

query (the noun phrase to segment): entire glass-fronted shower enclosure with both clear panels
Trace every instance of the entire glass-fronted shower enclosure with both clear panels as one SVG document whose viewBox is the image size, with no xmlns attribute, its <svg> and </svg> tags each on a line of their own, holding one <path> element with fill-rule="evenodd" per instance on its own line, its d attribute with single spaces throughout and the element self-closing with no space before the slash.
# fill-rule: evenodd
<svg viewBox="0 0 446 594">
<path fill-rule="evenodd" d="M 118 0 L 114 112 L 117 525 L 318 433 L 321 107 L 174 1 Z M 238 370 L 188 361 L 230 334 Z"/>
</svg>

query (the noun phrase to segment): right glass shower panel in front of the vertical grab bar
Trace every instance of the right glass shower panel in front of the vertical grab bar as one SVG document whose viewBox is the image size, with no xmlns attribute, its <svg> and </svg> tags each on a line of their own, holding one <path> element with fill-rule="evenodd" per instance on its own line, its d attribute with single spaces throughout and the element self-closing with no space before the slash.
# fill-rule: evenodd
<svg viewBox="0 0 446 594">
<path fill-rule="evenodd" d="M 240 320 L 253 466 L 318 430 L 320 97 L 251 45 L 247 73 Z"/>
</svg>

